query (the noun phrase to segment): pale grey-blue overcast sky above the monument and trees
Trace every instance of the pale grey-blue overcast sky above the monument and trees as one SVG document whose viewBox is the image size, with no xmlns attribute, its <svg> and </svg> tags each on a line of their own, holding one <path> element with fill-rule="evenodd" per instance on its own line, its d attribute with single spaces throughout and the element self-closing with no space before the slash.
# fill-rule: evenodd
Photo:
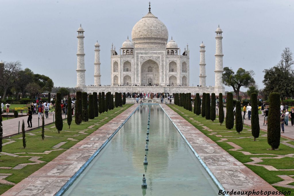
<svg viewBox="0 0 294 196">
<path fill-rule="evenodd" d="M 147 0 L 0 0 L 0 60 L 49 76 L 54 86 L 76 86 L 77 29 L 85 30 L 86 85 L 94 83 L 94 44 L 100 43 L 101 84 L 111 83 L 111 43 L 119 53 Z M 199 84 L 199 46 L 206 46 L 206 85 L 214 86 L 215 30 L 223 30 L 223 66 L 255 72 L 278 63 L 285 47 L 294 50 L 293 0 L 151 1 L 151 12 L 167 27 L 169 40 L 190 50 L 190 85 Z M 226 87 L 232 91 L 232 88 Z"/>
</svg>

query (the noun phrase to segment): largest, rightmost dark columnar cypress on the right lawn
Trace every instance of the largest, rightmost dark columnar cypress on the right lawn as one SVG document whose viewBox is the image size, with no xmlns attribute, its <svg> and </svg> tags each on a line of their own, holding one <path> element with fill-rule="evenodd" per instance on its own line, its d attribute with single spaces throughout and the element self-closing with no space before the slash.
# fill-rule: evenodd
<svg viewBox="0 0 294 196">
<path fill-rule="evenodd" d="M 281 138 L 280 93 L 270 93 L 268 111 L 268 144 L 272 150 L 278 149 Z"/>
</svg>

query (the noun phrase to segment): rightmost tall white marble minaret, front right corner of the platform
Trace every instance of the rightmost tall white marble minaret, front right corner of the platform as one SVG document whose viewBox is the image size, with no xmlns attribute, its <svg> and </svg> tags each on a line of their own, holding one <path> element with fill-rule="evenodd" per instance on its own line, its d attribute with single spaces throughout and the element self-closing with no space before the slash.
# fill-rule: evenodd
<svg viewBox="0 0 294 196">
<path fill-rule="evenodd" d="M 222 44 L 222 32 L 220 26 L 216 29 L 216 68 L 215 73 L 215 87 L 223 87 L 222 76 L 223 76 L 223 44 Z"/>
</svg>

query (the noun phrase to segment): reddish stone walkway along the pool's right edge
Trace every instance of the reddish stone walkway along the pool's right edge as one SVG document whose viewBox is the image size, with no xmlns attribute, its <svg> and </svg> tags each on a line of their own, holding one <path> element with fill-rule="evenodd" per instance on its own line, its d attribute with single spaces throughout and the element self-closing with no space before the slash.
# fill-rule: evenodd
<svg viewBox="0 0 294 196">
<path fill-rule="evenodd" d="M 162 104 L 162 106 L 225 190 L 253 191 L 254 189 L 255 191 L 277 191 L 268 182 L 178 115 L 178 113 L 165 104 Z M 213 133 L 213 130 L 205 126 L 203 128 Z M 238 148 L 238 146 L 235 147 Z"/>
</svg>

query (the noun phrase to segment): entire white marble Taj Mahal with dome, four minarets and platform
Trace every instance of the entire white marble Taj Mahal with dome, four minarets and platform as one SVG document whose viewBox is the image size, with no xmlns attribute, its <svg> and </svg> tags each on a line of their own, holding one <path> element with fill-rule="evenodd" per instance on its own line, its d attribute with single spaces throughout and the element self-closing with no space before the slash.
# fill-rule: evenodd
<svg viewBox="0 0 294 196">
<path fill-rule="evenodd" d="M 173 37 L 168 41 L 165 24 L 151 13 L 140 19 L 121 48 L 111 45 L 111 86 L 101 86 L 100 44 L 95 43 L 94 86 L 85 83 L 84 30 L 78 28 L 77 84 L 92 92 L 164 92 L 164 93 L 225 93 L 222 83 L 223 51 L 222 33 L 216 29 L 215 86 L 206 86 L 205 45 L 200 44 L 200 76 L 198 86 L 189 86 L 190 53 L 188 44 L 181 51 Z M 195 63 L 193 63 L 194 65 Z M 106 66 L 106 65 L 103 65 Z M 109 66 L 109 65 L 107 65 Z M 192 74 L 193 75 L 193 74 Z"/>
</svg>

